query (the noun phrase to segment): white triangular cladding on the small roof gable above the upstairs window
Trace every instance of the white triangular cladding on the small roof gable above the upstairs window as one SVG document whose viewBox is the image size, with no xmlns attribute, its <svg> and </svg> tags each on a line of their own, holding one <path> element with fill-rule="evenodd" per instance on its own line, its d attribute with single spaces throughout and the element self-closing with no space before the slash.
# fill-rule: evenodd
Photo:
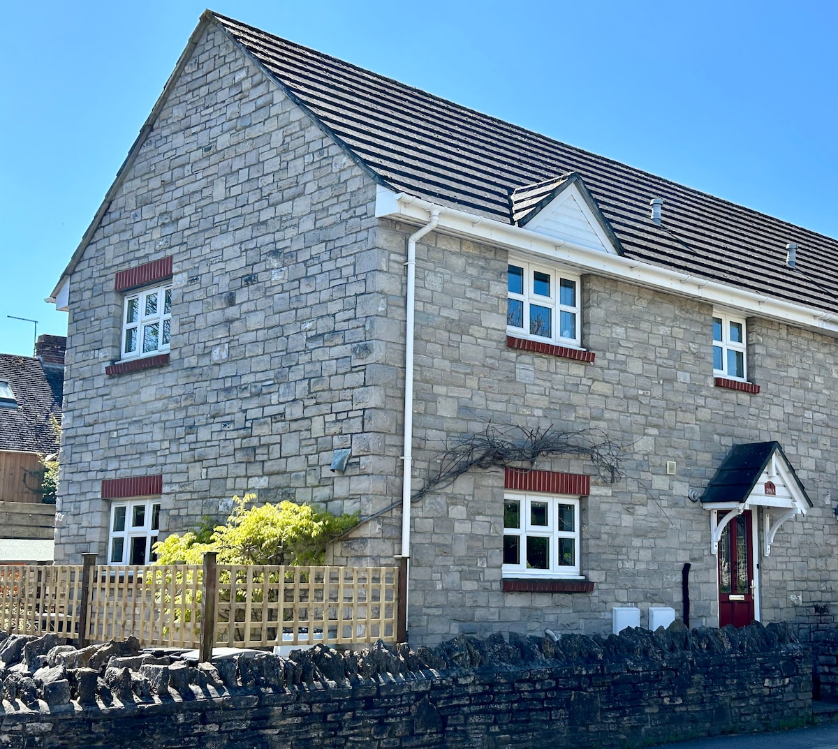
<svg viewBox="0 0 838 749">
<path fill-rule="evenodd" d="M 602 222 L 588 206 L 575 183 L 567 185 L 535 214 L 526 223 L 526 228 L 536 234 L 618 255 Z"/>
</svg>

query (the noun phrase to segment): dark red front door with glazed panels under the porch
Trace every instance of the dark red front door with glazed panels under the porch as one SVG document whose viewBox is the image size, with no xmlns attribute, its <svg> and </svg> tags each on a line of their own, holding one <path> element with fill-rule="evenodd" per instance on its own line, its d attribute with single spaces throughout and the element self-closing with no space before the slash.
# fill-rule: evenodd
<svg viewBox="0 0 838 749">
<path fill-rule="evenodd" d="M 751 511 L 733 518 L 719 541 L 719 627 L 753 622 Z"/>
</svg>

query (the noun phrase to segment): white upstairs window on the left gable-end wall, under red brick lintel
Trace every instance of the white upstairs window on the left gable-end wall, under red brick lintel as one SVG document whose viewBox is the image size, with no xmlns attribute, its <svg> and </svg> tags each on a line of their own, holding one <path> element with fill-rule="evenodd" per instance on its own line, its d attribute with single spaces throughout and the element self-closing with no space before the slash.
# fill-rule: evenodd
<svg viewBox="0 0 838 749">
<path fill-rule="evenodd" d="M 171 284 L 127 294 L 122 313 L 122 359 L 165 354 L 171 326 Z"/>
</svg>

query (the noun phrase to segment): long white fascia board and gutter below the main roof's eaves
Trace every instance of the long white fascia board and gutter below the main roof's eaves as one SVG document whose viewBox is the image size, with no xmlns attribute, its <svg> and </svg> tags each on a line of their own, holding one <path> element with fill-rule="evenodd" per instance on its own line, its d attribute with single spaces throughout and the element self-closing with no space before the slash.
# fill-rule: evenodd
<svg viewBox="0 0 838 749">
<path fill-rule="evenodd" d="M 642 287 L 701 299 L 760 318 L 776 320 L 799 328 L 838 338 L 838 313 L 773 299 L 764 294 L 727 286 L 690 273 L 673 271 L 623 256 L 608 255 L 572 242 L 551 239 L 520 226 L 502 224 L 494 219 L 475 216 L 463 210 L 432 204 L 406 193 L 395 193 L 379 186 L 375 197 L 375 216 L 402 220 L 410 224 L 427 224 L 428 211 L 438 209 L 437 231 L 467 237 L 470 240 L 508 249 L 529 252 L 576 268 L 581 272 L 629 281 Z"/>
</svg>

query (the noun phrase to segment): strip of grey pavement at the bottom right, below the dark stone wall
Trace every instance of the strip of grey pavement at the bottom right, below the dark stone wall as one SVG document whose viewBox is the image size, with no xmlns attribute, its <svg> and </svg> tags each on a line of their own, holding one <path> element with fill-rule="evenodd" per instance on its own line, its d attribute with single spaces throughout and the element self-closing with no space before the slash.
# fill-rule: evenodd
<svg viewBox="0 0 838 749">
<path fill-rule="evenodd" d="M 738 736 L 712 736 L 644 749 L 838 749 L 838 722 L 835 707 L 813 703 L 813 724 L 791 731 L 749 733 Z M 820 721 L 820 722 L 819 722 Z"/>
</svg>

